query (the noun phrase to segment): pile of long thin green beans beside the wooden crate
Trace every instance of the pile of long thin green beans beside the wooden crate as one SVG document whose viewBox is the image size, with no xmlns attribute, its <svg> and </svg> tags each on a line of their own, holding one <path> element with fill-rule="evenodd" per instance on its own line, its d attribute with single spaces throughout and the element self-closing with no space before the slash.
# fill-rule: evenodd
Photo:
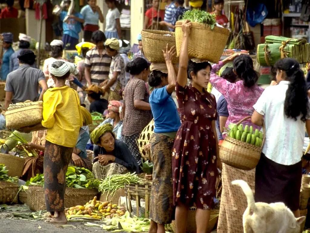
<svg viewBox="0 0 310 233">
<path fill-rule="evenodd" d="M 134 173 L 127 173 L 125 175 L 112 175 L 106 177 L 104 180 L 100 181 L 99 192 L 108 192 L 107 196 L 110 194 L 114 196 L 118 189 L 124 188 L 124 185 L 136 185 L 140 184 L 141 179 Z"/>
</svg>

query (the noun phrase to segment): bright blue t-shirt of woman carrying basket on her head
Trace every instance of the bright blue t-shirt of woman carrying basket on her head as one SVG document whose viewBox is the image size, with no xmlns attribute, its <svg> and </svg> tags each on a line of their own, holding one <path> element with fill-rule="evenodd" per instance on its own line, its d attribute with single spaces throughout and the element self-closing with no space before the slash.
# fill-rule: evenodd
<svg viewBox="0 0 310 233">
<path fill-rule="evenodd" d="M 181 122 L 178 110 L 166 86 L 154 89 L 149 103 L 155 121 L 155 133 L 170 133 L 179 130 Z"/>
</svg>

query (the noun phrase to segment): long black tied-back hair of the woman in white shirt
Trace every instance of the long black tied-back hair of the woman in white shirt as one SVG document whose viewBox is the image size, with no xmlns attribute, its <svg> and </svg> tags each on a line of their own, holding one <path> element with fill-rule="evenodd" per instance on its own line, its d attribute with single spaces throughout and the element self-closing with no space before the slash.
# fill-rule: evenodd
<svg viewBox="0 0 310 233">
<path fill-rule="evenodd" d="M 278 60 L 275 64 L 277 70 L 286 73 L 286 80 L 290 81 L 284 101 L 284 113 L 287 117 L 306 121 L 308 112 L 308 94 L 306 80 L 299 63 L 293 58 Z"/>
</svg>

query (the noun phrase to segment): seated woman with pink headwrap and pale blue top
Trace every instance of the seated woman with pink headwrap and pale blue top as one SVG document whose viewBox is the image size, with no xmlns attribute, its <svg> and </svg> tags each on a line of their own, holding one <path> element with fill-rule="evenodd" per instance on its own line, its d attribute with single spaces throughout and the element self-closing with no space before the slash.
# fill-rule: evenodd
<svg viewBox="0 0 310 233">
<path fill-rule="evenodd" d="M 108 111 L 109 118 L 105 119 L 97 128 L 103 126 L 104 124 L 111 124 L 113 126 L 113 134 L 117 135 L 119 128 L 122 126 L 123 121 L 120 117 L 119 108 L 122 106 L 122 103 L 117 100 L 109 101 Z"/>
</svg>

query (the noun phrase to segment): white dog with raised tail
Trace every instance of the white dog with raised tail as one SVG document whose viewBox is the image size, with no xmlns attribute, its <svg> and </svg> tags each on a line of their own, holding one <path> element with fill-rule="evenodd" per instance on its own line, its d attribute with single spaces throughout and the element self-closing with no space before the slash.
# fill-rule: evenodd
<svg viewBox="0 0 310 233">
<path fill-rule="evenodd" d="M 244 233 L 300 233 L 300 224 L 306 217 L 295 218 L 282 202 L 255 203 L 252 190 L 243 180 L 234 180 L 232 184 L 242 188 L 248 202 L 243 214 Z"/>
</svg>

